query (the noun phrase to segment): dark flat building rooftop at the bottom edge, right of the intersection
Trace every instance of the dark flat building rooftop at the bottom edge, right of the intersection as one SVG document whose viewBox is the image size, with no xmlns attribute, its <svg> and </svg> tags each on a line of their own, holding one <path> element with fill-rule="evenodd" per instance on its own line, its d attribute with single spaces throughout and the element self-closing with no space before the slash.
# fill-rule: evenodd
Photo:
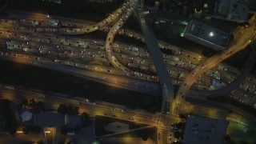
<svg viewBox="0 0 256 144">
<path fill-rule="evenodd" d="M 222 144 L 228 121 L 190 116 L 186 122 L 183 144 Z"/>
</svg>

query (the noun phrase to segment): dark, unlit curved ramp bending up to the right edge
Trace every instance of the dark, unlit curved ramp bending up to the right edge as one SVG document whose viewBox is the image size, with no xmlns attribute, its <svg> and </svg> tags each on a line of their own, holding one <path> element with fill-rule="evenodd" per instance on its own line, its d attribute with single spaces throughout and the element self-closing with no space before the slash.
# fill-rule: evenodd
<svg viewBox="0 0 256 144">
<path fill-rule="evenodd" d="M 255 46 L 255 42 L 253 46 Z M 243 67 L 242 73 L 239 75 L 239 77 L 236 80 L 231 82 L 230 85 L 218 90 L 190 90 L 188 94 L 197 95 L 197 96 L 206 96 L 206 97 L 218 97 L 225 94 L 229 94 L 232 90 L 238 88 L 240 83 L 242 83 L 246 78 L 246 76 L 250 74 L 250 70 L 254 66 L 255 56 L 256 56 L 256 50 L 255 50 L 255 47 L 252 47 L 250 57 L 247 59 L 246 65 Z"/>
</svg>

